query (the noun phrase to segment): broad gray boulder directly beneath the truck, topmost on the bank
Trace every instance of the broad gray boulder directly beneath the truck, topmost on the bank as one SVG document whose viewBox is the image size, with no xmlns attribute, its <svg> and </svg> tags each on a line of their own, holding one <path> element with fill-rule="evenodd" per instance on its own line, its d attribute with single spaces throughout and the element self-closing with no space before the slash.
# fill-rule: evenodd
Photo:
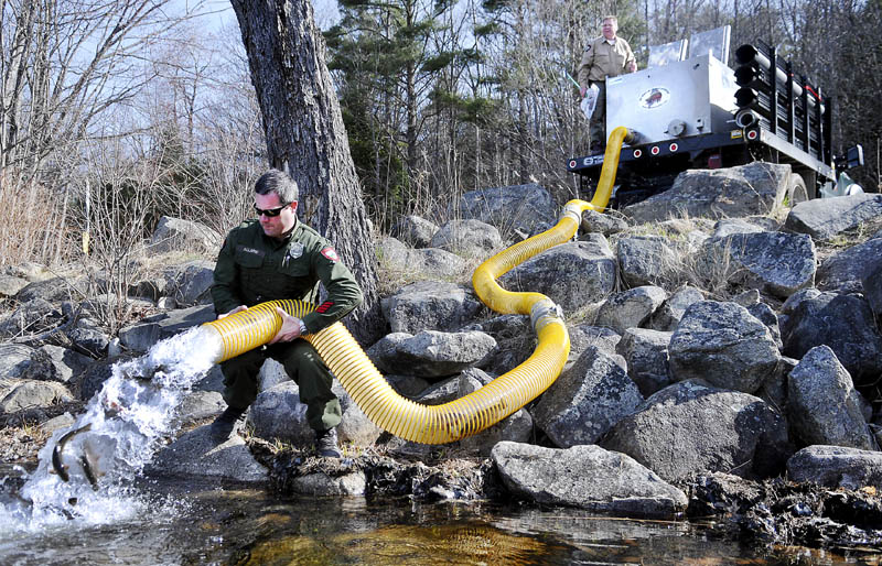
<svg viewBox="0 0 882 566">
<path fill-rule="evenodd" d="M 739 167 L 688 170 L 674 185 L 624 213 L 639 222 L 688 216 L 722 218 L 764 215 L 784 200 L 789 165 L 753 162 Z"/>
</svg>

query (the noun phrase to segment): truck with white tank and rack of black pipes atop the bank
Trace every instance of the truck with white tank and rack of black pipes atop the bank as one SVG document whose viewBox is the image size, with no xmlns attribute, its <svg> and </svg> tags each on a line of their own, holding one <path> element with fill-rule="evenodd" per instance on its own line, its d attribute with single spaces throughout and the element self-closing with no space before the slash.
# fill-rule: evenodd
<svg viewBox="0 0 882 566">
<path fill-rule="evenodd" d="M 729 37 L 727 25 L 653 46 L 647 68 L 606 79 L 606 135 L 622 126 L 631 134 L 613 208 L 669 188 L 686 170 L 753 161 L 788 163 L 796 175 L 787 195 L 796 203 L 863 164 L 860 145 L 833 152 L 830 97 L 762 42 L 735 50 L 730 67 Z M 604 157 L 601 150 L 567 160 L 580 193 L 596 187 Z"/>
</svg>

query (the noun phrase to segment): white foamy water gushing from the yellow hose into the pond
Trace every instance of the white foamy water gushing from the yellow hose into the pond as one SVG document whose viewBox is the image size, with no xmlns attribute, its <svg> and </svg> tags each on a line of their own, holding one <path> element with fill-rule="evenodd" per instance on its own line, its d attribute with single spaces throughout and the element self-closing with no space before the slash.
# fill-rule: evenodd
<svg viewBox="0 0 882 566">
<path fill-rule="evenodd" d="M 155 502 L 141 497 L 132 480 L 175 432 L 178 407 L 212 369 L 220 349 L 216 333 L 196 327 L 158 342 L 141 358 L 114 364 L 86 411 L 71 427 L 53 433 L 40 450 L 40 464 L 18 497 L 3 502 L 0 535 L 155 513 Z M 69 481 L 52 465 L 53 450 L 65 435 L 61 454 Z"/>
</svg>

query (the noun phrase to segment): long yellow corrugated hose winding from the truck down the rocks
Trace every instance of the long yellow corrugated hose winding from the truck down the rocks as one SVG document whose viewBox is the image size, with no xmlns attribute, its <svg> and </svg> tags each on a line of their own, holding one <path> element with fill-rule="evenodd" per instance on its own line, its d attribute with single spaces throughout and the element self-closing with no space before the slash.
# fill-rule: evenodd
<svg viewBox="0 0 882 566">
<path fill-rule="evenodd" d="M 610 135 L 598 189 L 591 203 L 570 200 L 553 228 L 503 250 L 482 263 L 472 276 L 475 293 L 493 311 L 530 315 L 538 346 L 517 368 L 455 401 L 422 405 L 399 395 L 389 385 L 342 324 L 304 336 L 374 424 L 408 440 L 451 443 L 493 426 L 555 382 L 570 352 L 570 338 L 560 308 L 540 293 L 506 291 L 496 283 L 496 277 L 572 238 L 583 210 L 603 211 L 606 208 L 622 142 L 630 135 L 625 128 L 616 128 Z M 281 327 L 277 306 L 298 318 L 314 308 L 314 305 L 301 301 L 272 301 L 204 324 L 203 327 L 216 330 L 223 340 L 223 352 L 217 361 L 234 358 L 269 341 Z"/>
</svg>

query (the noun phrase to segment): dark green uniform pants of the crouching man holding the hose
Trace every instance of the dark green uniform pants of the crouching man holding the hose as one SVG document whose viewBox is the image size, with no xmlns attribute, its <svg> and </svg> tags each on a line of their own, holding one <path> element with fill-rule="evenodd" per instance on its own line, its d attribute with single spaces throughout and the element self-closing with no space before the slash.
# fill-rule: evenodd
<svg viewBox="0 0 882 566">
<path fill-rule="evenodd" d="M 244 411 L 254 403 L 257 374 L 267 358 L 281 363 L 300 387 L 300 402 L 306 405 L 306 420 L 313 431 L 340 424 L 343 411 L 340 400 L 331 392 L 333 375 L 312 345 L 303 339 L 255 348 L 220 363 L 227 405 Z"/>
</svg>

